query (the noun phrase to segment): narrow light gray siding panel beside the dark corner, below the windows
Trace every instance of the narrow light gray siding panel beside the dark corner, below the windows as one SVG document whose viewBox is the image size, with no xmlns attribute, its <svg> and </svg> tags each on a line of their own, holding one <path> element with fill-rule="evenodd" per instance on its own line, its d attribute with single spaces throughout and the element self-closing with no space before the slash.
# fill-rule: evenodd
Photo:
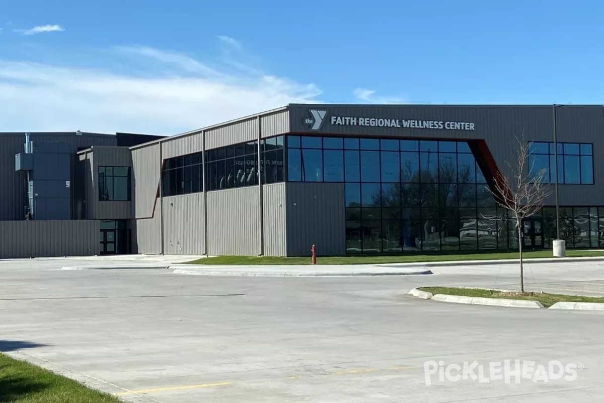
<svg viewBox="0 0 604 403">
<path fill-rule="evenodd" d="M 285 183 L 263 185 L 266 256 L 287 256 Z"/>
</svg>

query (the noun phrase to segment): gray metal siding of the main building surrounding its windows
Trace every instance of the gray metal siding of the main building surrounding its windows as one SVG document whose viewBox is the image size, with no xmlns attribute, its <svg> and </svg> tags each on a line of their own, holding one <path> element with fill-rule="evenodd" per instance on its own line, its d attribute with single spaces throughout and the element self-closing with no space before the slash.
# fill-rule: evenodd
<svg viewBox="0 0 604 403">
<path fill-rule="evenodd" d="M 313 111 L 315 113 L 313 114 Z M 315 120 L 323 111 L 321 124 Z M 602 142 L 604 108 L 602 106 L 563 106 L 556 109 L 558 142 L 591 143 L 594 160 L 594 184 L 559 185 L 561 205 L 604 205 Z M 332 117 L 351 118 L 357 124 L 345 124 Z M 367 124 L 358 124 L 366 119 Z M 410 127 L 381 127 L 370 120 L 415 121 Z M 422 122 L 435 122 L 433 127 Z M 438 124 L 451 122 L 450 127 Z M 483 141 L 484 152 L 506 175 L 507 163 L 516 152 L 516 137 L 528 141 L 553 141 L 552 106 L 432 106 L 432 105 L 288 105 L 286 108 L 244 117 L 187 134 L 133 147 L 135 175 L 150 175 L 161 170 L 157 151 L 144 151 L 161 143 L 161 161 L 191 152 L 205 152 L 231 144 L 254 141 L 274 135 L 323 137 L 417 138 L 431 140 Z M 140 155 L 135 157 L 134 155 Z M 153 155 L 152 155 L 153 154 Z M 146 169 L 138 169 L 142 163 Z M 487 161 L 489 162 L 489 161 Z M 487 167 L 488 168 L 488 167 Z M 485 169 L 487 169 L 485 168 Z M 204 168 L 205 169 L 205 168 Z M 204 175 L 206 172 L 204 171 Z M 145 201 L 135 203 L 135 216 L 149 221 L 150 206 L 164 213 L 161 224 L 147 225 L 138 250 L 176 254 L 242 254 L 269 256 L 305 256 L 312 244 L 321 254 L 346 253 L 345 189 L 343 183 L 288 182 L 260 184 L 242 189 L 212 190 L 193 195 L 162 197 L 159 172 L 153 173 L 145 190 Z M 140 182 L 140 179 L 135 178 Z M 589 190 L 584 192 L 584 190 Z M 140 189 L 138 189 L 140 190 Z M 205 189 L 204 189 L 205 190 Z M 553 193 L 553 192 L 552 192 Z M 546 204 L 553 204 L 553 194 Z M 136 196 L 141 198 L 141 193 Z M 141 208 L 145 206 L 147 213 Z M 176 207 L 179 207 L 178 209 Z M 155 210 L 158 210 L 156 207 Z M 161 215 L 161 211 L 159 214 Z M 158 214 L 157 211 L 154 213 Z M 167 214 L 170 214 L 169 216 Z M 180 214 L 180 216 L 179 216 Z M 161 227 L 161 228 L 160 228 Z M 148 229 L 147 229 L 148 228 Z M 159 228 L 160 236 L 147 233 Z M 139 236 L 142 234 L 139 233 Z M 161 246 L 158 248 L 158 239 Z M 152 246 L 151 246 L 152 245 Z"/>
</svg>

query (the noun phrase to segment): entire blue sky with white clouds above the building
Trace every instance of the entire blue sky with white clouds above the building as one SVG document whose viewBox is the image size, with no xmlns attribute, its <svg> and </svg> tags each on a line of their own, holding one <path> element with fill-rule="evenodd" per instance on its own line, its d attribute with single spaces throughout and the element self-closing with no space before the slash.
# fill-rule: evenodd
<svg viewBox="0 0 604 403">
<path fill-rule="evenodd" d="M 603 14 L 597 0 L 4 0 L 0 131 L 176 134 L 290 102 L 601 104 Z"/>
</svg>

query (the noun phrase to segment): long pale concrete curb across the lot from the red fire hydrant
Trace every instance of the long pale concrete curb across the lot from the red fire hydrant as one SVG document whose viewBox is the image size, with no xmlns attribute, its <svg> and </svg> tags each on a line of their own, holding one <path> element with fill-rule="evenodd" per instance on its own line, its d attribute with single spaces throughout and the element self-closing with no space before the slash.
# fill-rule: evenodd
<svg viewBox="0 0 604 403">
<path fill-rule="evenodd" d="M 180 266 L 170 266 L 174 274 L 189 276 L 222 276 L 222 277 L 376 277 L 376 276 L 418 276 L 432 274 L 430 270 L 407 270 L 391 272 L 345 272 L 345 271 L 249 271 L 230 269 L 191 269 Z"/>
</svg>

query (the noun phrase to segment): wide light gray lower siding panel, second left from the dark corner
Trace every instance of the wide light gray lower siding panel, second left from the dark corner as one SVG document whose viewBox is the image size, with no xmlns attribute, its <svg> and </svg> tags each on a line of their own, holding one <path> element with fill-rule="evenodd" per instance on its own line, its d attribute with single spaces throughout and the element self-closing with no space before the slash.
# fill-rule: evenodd
<svg viewBox="0 0 604 403">
<path fill-rule="evenodd" d="M 259 187 L 207 193 L 208 254 L 260 254 Z"/>
</svg>

